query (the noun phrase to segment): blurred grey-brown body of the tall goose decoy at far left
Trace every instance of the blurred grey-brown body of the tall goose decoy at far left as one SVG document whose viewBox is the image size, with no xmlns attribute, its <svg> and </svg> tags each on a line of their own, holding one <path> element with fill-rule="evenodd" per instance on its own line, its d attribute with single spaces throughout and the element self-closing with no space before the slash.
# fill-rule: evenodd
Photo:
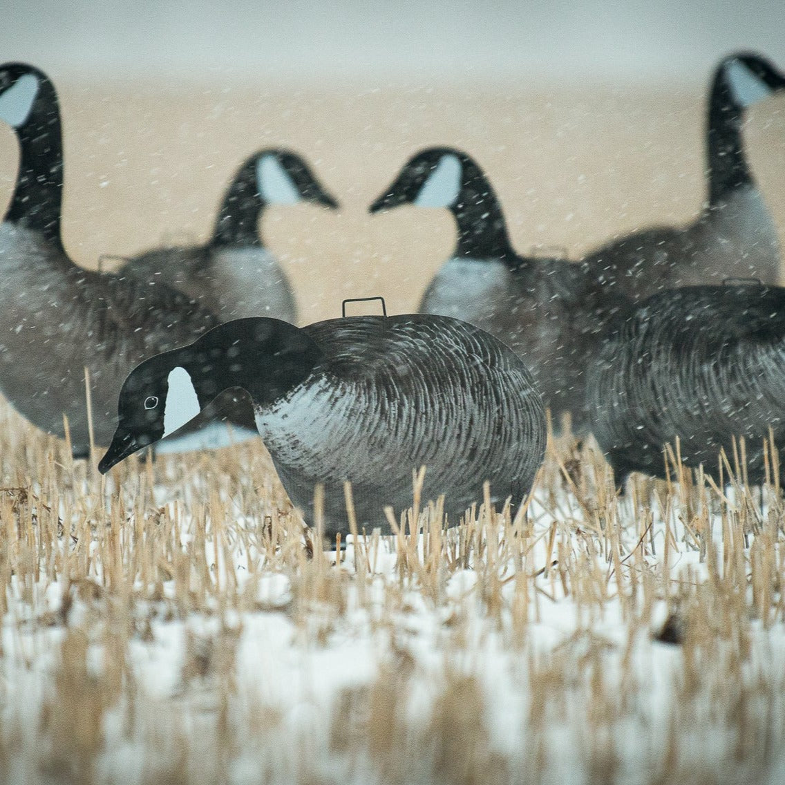
<svg viewBox="0 0 785 785">
<path fill-rule="evenodd" d="M 73 265 L 37 232 L 0 225 L 0 392 L 33 425 L 89 452 L 85 373 L 96 444 L 111 441 L 122 380 L 146 357 L 192 341 L 218 320 L 162 284 Z"/>
</svg>

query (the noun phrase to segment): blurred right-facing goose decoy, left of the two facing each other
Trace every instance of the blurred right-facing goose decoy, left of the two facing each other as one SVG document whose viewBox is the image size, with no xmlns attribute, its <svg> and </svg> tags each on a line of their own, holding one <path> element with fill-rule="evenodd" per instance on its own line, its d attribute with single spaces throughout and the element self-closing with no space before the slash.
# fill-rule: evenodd
<svg viewBox="0 0 785 785">
<path fill-rule="evenodd" d="M 122 273 L 162 281 L 221 321 L 273 316 L 294 323 L 291 287 L 262 243 L 258 221 L 268 205 L 299 202 L 338 207 L 299 155 L 279 148 L 256 152 L 235 173 L 208 243 L 147 251 L 130 259 Z"/>
</svg>

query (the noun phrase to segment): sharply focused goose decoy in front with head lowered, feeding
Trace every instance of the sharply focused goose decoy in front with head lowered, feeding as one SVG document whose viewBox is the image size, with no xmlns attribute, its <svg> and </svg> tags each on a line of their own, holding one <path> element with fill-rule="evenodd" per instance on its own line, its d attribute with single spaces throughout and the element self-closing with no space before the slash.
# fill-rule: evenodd
<svg viewBox="0 0 785 785">
<path fill-rule="evenodd" d="M 448 523 L 482 498 L 513 508 L 545 450 L 542 399 L 501 341 L 440 316 L 350 316 L 308 327 L 237 319 L 184 349 L 146 360 L 120 393 L 119 425 L 99 469 L 173 433 L 225 389 L 254 401 L 257 429 L 294 506 L 312 520 L 324 486 L 325 532 L 346 531 L 343 484 L 360 526 L 383 509 L 445 495 Z"/>
</svg>

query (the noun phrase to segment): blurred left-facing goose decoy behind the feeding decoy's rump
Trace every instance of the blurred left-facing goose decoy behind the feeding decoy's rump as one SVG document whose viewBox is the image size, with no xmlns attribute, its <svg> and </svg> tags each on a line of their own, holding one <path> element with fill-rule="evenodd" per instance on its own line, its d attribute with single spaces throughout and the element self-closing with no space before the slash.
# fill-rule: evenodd
<svg viewBox="0 0 785 785">
<path fill-rule="evenodd" d="M 464 319 L 504 341 L 528 365 L 556 429 L 569 412 L 573 432 L 585 433 L 586 364 L 619 298 L 585 266 L 517 254 L 491 184 L 465 152 L 418 152 L 369 210 L 403 204 L 450 210 L 458 229 L 419 311 Z"/>
</svg>

